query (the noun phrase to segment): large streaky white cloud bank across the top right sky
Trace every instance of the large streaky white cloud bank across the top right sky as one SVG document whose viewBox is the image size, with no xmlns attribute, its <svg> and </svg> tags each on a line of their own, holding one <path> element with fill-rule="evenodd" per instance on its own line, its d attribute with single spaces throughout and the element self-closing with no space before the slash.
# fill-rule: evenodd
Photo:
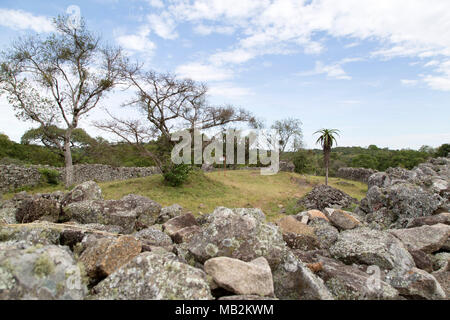
<svg viewBox="0 0 450 320">
<path fill-rule="evenodd" d="M 314 39 L 318 33 L 351 39 L 346 48 L 363 40 L 378 41 L 375 58 L 450 57 L 447 0 L 174 0 L 166 13 L 177 23 L 197 25 L 200 34 L 214 32 L 205 26 L 212 23 L 232 26 L 242 35 L 229 50 L 214 54 L 213 63 L 240 64 L 266 54 L 318 54 L 326 49 Z M 234 57 L 242 52 L 246 54 Z M 340 65 L 319 66 L 319 71 L 349 78 Z M 446 76 L 431 74 L 425 79 L 432 88 L 447 87 Z"/>
</svg>

